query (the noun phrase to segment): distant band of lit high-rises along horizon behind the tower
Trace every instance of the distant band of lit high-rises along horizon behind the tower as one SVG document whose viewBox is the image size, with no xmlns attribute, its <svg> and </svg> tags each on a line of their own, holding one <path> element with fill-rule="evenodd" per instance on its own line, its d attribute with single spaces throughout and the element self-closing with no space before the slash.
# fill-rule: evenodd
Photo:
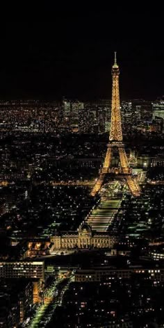
<svg viewBox="0 0 164 328">
<path fill-rule="evenodd" d="M 164 100 L 133 99 L 121 104 L 123 129 L 163 131 Z M 110 129 L 111 101 L 0 101 L 1 131 L 104 133 Z"/>
</svg>

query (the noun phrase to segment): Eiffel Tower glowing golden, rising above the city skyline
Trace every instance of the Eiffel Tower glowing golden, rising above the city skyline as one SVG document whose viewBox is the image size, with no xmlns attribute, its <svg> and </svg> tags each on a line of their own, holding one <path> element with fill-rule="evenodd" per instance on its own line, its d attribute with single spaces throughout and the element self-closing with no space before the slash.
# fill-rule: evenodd
<svg viewBox="0 0 164 328">
<path fill-rule="evenodd" d="M 113 179 L 124 179 L 129 186 L 133 196 L 140 195 L 140 187 L 136 179 L 133 178 L 131 167 L 129 166 L 124 143 L 122 142 L 122 123 L 120 114 L 120 94 L 119 94 L 119 74 L 120 69 L 117 65 L 115 52 L 115 62 L 112 67 L 113 90 L 112 90 L 112 112 L 109 142 L 107 145 L 106 157 L 104 165 L 99 170 L 99 178 L 95 186 L 92 188 L 91 195 L 95 196 L 101 187 L 113 177 Z M 117 151 L 120 157 L 120 167 L 112 167 L 111 161 L 113 151 Z"/>
</svg>

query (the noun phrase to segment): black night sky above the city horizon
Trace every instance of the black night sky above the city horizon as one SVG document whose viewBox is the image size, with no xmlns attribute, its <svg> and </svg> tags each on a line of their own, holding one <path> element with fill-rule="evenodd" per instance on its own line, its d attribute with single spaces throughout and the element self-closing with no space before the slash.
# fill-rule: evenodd
<svg viewBox="0 0 164 328">
<path fill-rule="evenodd" d="M 108 99 L 114 51 L 122 99 L 163 95 L 163 9 L 101 7 L 51 8 L 49 19 L 47 12 L 6 21 L 1 99 Z"/>
</svg>

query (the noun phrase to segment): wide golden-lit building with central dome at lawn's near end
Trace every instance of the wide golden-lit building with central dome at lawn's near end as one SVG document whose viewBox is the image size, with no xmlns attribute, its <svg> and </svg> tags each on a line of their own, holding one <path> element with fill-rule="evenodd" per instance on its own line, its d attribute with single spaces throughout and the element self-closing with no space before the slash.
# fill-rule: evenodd
<svg viewBox="0 0 164 328">
<path fill-rule="evenodd" d="M 73 249 L 73 248 L 111 248 L 116 243 L 115 236 L 108 233 L 93 232 L 90 225 L 83 222 L 78 231 L 64 231 L 58 236 L 51 236 L 53 243 L 52 251 L 56 249 Z"/>
</svg>

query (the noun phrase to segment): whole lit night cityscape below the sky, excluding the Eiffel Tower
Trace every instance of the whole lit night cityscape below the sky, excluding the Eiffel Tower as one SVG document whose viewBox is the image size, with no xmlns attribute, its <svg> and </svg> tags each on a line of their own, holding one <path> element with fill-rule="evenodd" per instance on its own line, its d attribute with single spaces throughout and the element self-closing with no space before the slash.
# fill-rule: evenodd
<svg viewBox="0 0 164 328">
<path fill-rule="evenodd" d="M 116 181 L 89 194 L 109 100 L 0 101 L 1 327 L 132 328 L 159 311 L 163 327 L 164 99 L 120 107 L 137 199 Z"/>
</svg>

